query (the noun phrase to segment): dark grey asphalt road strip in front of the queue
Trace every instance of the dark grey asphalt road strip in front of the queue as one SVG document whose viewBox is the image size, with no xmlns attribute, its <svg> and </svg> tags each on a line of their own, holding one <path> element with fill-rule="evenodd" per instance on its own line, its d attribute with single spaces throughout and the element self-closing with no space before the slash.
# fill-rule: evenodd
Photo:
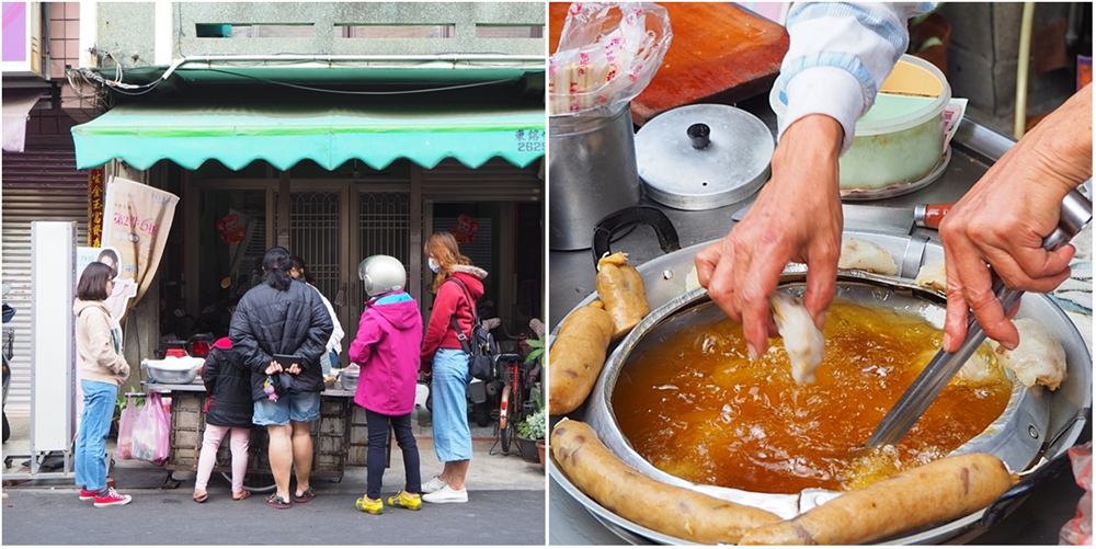
<svg viewBox="0 0 1096 549">
<path fill-rule="evenodd" d="M 262 496 L 232 502 L 228 489 L 208 502 L 191 501 L 187 487 L 130 491 L 124 507 L 94 508 L 75 490 L 8 490 L 4 545 L 544 545 L 545 492 L 470 491 L 467 504 L 422 511 L 386 508 L 380 516 L 354 508 L 361 491 L 323 488 L 316 500 L 276 511 Z"/>
</svg>

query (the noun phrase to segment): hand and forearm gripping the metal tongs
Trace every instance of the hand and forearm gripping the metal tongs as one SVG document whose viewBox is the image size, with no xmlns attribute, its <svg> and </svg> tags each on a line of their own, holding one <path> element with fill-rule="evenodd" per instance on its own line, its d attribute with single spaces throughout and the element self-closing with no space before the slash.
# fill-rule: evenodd
<svg viewBox="0 0 1096 549">
<path fill-rule="evenodd" d="M 1062 198 L 1092 176 L 1092 85 L 1048 115 L 956 203 L 940 224 L 947 270 L 944 348 L 967 335 L 967 309 L 1006 348 L 1016 328 L 993 295 L 993 266 L 1011 288 L 1046 293 L 1070 276 L 1074 248 L 1042 248 L 1058 226 Z"/>
</svg>

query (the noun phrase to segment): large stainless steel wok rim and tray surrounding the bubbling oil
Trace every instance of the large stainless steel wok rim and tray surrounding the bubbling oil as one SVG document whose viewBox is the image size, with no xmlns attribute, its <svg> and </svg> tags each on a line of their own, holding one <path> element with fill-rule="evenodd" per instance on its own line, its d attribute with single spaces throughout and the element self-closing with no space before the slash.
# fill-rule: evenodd
<svg viewBox="0 0 1096 549">
<path fill-rule="evenodd" d="M 608 235 L 603 237 L 603 244 L 607 244 Z M 916 237 L 871 232 L 846 231 L 845 238 L 871 241 L 887 249 L 900 265 L 901 278 L 855 271 L 842 272 L 838 277 L 838 296 L 861 302 L 884 302 L 920 314 L 937 327 L 943 324 L 943 297 L 918 288 L 910 281 L 922 264 L 943 259 L 944 251 L 938 244 Z M 671 239 L 663 238 L 660 232 L 660 240 L 665 244 Z M 647 285 L 652 312 L 613 350 L 586 403 L 568 416 L 590 423 L 618 457 L 652 478 L 716 497 L 755 505 L 788 518 L 835 497 L 840 492 L 809 489 L 798 494 L 758 494 L 694 484 L 647 462 L 631 448 L 614 418 L 612 391 L 620 370 L 627 367 L 630 353 L 642 352 L 643 345 L 649 344 L 648 341 L 673 332 L 675 327 L 703 322 L 719 313 L 706 293 L 696 289 L 693 259 L 705 245 L 708 243 L 673 251 L 638 266 Z M 783 277 L 783 284 L 791 287 L 801 287 L 802 281 L 803 270 L 796 265 L 790 265 Z M 594 299 L 596 294 L 587 296 L 576 308 Z M 1053 392 L 1038 388 L 1026 389 L 1015 384 L 1013 396 L 1001 418 L 956 453 L 985 451 L 996 455 L 1008 464 L 1011 470 L 1024 473 L 1021 482 L 986 508 L 884 542 L 937 544 L 969 539 L 1015 508 L 1041 477 L 1060 471 L 1065 464 L 1064 453 L 1084 431 L 1085 418 L 1092 407 L 1092 358 L 1084 339 L 1049 297 L 1025 295 L 1018 318 L 1032 318 L 1058 338 L 1066 352 L 1069 376 L 1060 389 Z M 558 328 L 557 325 L 556 329 Z M 553 460 L 550 474 L 598 521 L 625 539 L 633 542 L 688 542 L 639 526 L 601 506 L 572 484 Z"/>
</svg>

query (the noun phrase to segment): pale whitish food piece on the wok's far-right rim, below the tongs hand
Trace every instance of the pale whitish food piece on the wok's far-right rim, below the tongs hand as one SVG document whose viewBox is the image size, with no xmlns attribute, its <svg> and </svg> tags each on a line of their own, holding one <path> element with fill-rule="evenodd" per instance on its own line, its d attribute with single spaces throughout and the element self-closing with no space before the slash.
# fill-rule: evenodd
<svg viewBox="0 0 1096 549">
<path fill-rule="evenodd" d="M 1031 319 L 1015 321 L 1020 344 L 1008 351 L 996 343 L 994 351 L 1001 363 L 1016 374 L 1027 387 L 1041 385 L 1058 390 L 1066 375 L 1065 350 L 1047 330 Z"/>
</svg>

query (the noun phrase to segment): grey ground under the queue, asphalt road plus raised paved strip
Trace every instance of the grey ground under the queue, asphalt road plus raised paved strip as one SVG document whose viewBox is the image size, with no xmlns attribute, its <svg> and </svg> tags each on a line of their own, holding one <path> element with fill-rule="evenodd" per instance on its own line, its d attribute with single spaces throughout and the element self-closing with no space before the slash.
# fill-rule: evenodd
<svg viewBox="0 0 1096 549">
<path fill-rule="evenodd" d="M 20 422 L 21 423 L 21 422 Z M 18 431 L 25 428 L 18 425 Z M 16 432 L 16 435 L 20 434 Z M 476 433 L 480 435 L 481 432 Z M 15 437 L 13 437 L 15 438 Z M 422 476 L 441 470 L 431 439 L 420 435 Z M 386 508 L 380 516 L 354 508 L 365 491 L 364 468 L 350 468 L 342 482 L 317 481 L 317 499 L 277 511 L 265 496 L 230 500 L 228 482 L 215 474 L 209 501 L 191 501 L 193 474 L 176 473 L 176 489 L 160 489 L 165 473 L 124 461 L 112 472 L 129 505 L 94 508 L 69 485 L 20 485 L 3 490 L 4 545 L 543 545 L 545 491 L 540 466 L 516 456 L 491 456 L 492 441 L 477 436 L 467 504 L 431 505 L 410 512 Z M 18 446 L 18 443 L 16 443 Z M 12 453 L 13 444 L 4 445 Z M 402 488 L 400 453 L 392 453 L 384 493 Z M 59 527 L 62 525 L 62 527 Z"/>
</svg>

